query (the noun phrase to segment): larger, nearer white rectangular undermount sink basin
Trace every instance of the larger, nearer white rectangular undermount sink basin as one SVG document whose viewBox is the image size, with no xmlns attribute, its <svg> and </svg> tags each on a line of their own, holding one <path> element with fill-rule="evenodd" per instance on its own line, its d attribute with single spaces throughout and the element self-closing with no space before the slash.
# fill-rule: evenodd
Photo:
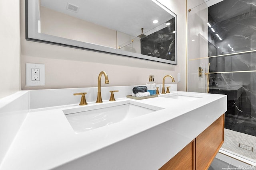
<svg viewBox="0 0 256 170">
<path fill-rule="evenodd" d="M 142 106 L 143 105 L 143 106 Z M 114 102 L 63 110 L 76 133 L 89 131 L 162 109 L 134 101 Z"/>
</svg>

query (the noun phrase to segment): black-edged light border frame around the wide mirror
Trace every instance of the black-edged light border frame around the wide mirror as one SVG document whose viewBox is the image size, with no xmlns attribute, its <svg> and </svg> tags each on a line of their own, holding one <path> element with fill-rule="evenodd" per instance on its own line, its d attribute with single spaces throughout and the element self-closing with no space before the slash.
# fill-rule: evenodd
<svg viewBox="0 0 256 170">
<path fill-rule="evenodd" d="M 101 45 L 76 41 L 76 40 L 72 40 L 72 39 L 66 39 L 66 38 L 62 38 L 62 37 L 56 37 L 56 36 L 48 35 L 48 34 L 44 34 L 44 33 L 38 33 L 38 21 L 40 20 L 40 12 L 39 12 L 39 8 L 34 8 L 34 7 L 39 6 L 39 3 L 38 3 L 39 0 L 25 0 L 25 3 L 26 3 L 26 5 L 25 5 L 25 8 L 26 8 L 25 9 L 26 40 L 177 65 L 177 15 L 174 14 L 166 6 L 162 5 L 157 0 L 153 0 L 153 1 L 157 5 L 159 5 L 161 8 L 163 8 L 163 10 L 166 10 L 168 13 L 170 13 L 175 18 L 175 31 L 176 31 L 176 33 L 175 33 L 175 61 L 170 61 L 170 60 L 161 59 L 158 57 L 152 57 L 152 56 L 148 56 L 148 55 L 142 55 L 142 54 L 138 54 L 138 53 L 132 53 L 129 51 L 121 51 L 119 49 L 104 47 Z"/>
</svg>

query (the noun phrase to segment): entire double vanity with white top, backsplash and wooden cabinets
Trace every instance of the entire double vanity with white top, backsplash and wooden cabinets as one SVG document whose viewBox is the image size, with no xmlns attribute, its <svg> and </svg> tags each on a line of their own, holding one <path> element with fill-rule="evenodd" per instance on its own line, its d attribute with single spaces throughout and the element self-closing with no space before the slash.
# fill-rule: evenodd
<svg viewBox="0 0 256 170">
<path fill-rule="evenodd" d="M 207 168 L 223 142 L 227 96 L 165 86 L 171 86 L 170 93 L 144 100 L 126 98 L 134 86 L 101 87 L 102 103 L 95 102 L 97 88 L 12 95 L 10 104 L 28 109 L 12 131 L 0 170 Z M 109 101 L 113 90 L 119 92 Z M 87 105 L 74 96 L 81 92 L 87 93 Z M 3 108 L 1 115 L 18 116 Z"/>
</svg>

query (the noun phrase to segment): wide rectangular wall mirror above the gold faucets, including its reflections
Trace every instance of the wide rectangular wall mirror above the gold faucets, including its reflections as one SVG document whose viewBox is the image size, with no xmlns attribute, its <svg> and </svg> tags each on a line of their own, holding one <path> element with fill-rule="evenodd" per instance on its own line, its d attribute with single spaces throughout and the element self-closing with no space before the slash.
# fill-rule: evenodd
<svg viewBox="0 0 256 170">
<path fill-rule="evenodd" d="M 156 0 L 27 0 L 27 9 L 27 40 L 177 64 L 176 15 Z"/>
</svg>

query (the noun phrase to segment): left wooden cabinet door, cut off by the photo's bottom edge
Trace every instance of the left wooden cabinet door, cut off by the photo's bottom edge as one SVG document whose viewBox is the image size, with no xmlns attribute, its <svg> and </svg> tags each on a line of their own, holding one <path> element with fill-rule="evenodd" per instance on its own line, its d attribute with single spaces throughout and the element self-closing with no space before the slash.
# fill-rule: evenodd
<svg viewBox="0 0 256 170">
<path fill-rule="evenodd" d="M 195 140 L 184 147 L 159 170 L 194 170 Z"/>
</svg>

